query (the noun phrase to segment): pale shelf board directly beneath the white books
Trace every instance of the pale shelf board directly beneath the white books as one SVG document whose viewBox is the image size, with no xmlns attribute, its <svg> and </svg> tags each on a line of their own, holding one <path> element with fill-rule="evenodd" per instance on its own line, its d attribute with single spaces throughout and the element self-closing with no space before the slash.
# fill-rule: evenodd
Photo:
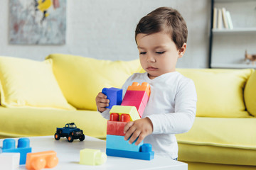
<svg viewBox="0 0 256 170">
<path fill-rule="evenodd" d="M 214 34 L 227 34 L 227 33 L 256 33 L 256 28 L 234 28 L 230 29 L 213 29 Z"/>
</svg>

